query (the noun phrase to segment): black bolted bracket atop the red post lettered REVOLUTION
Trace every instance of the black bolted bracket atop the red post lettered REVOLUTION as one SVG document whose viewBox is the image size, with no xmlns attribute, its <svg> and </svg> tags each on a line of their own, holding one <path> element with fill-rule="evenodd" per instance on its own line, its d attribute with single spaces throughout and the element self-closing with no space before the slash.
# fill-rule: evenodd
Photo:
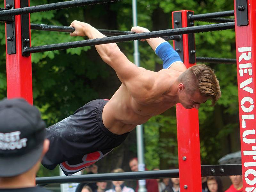
<svg viewBox="0 0 256 192">
<path fill-rule="evenodd" d="M 248 25 L 247 0 L 236 0 L 236 24 L 237 26 Z"/>
</svg>

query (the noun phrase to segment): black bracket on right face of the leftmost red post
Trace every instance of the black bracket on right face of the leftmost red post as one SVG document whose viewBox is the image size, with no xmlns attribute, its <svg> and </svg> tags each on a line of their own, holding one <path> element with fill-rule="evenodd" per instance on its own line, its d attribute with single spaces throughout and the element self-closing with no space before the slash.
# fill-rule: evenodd
<svg viewBox="0 0 256 192">
<path fill-rule="evenodd" d="M 28 7 L 28 0 L 20 0 L 20 7 Z M 29 33 L 29 14 L 20 15 L 21 22 L 21 48 L 22 56 L 28 57 L 30 53 L 25 53 L 24 48 L 30 47 L 30 33 Z"/>
</svg>

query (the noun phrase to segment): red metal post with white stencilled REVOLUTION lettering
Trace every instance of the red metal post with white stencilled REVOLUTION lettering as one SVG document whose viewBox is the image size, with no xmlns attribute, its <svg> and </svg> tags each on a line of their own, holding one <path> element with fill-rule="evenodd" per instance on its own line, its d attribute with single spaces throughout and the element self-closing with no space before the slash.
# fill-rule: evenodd
<svg viewBox="0 0 256 192">
<path fill-rule="evenodd" d="M 236 0 L 235 22 L 237 12 Z M 240 137 L 242 152 L 243 187 L 246 192 L 256 192 L 256 2 L 247 0 L 248 25 L 237 26 L 236 23 L 236 59 L 238 80 L 238 103 L 240 119 Z"/>
</svg>

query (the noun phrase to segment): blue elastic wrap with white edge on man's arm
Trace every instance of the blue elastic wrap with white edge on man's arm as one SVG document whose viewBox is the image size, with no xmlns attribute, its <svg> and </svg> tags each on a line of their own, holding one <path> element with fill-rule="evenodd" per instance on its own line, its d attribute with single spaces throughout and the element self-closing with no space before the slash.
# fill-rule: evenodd
<svg viewBox="0 0 256 192">
<path fill-rule="evenodd" d="M 169 68 L 175 61 L 182 62 L 179 54 L 174 51 L 172 45 L 170 45 L 168 42 L 163 42 L 158 45 L 155 52 L 157 56 L 164 62 L 163 69 Z"/>
</svg>

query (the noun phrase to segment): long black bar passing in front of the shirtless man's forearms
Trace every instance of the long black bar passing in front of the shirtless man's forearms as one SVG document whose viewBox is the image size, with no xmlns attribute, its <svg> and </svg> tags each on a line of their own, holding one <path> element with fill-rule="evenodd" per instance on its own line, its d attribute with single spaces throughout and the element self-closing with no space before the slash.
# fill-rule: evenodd
<svg viewBox="0 0 256 192">
<path fill-rule="evenodd" d="M 188 33 L 200 33 L 200 32 L 216 31 L 216 30 L 226 30 L 226 29 L 233 29 L 233 28 L 235 28 L 235 22 L 166 29 L 161 31 L 151 31 L 151 32 L 145 32 L 145 33 L 136 33 L 136 34 L 129 34 L 129 35 L 113 36 L 113 37 L 103 37 L 103 38 L 74 41 L 74 42 L 67 42 L 67 43 L 61 43 L 61 44 L 42 45 L 37 47 L 25 47 L 24 53 L 46 52 L 46 51 L 84 47 L 84 46 L 91 46 L 91 45 L 98 45 L 98 44 L 118 43 L 118 42 L 133 41 L 133 40 L 139 40 L 139 39 L 182 35 L 182 34 L 188 34 Z"/>
</svg>

